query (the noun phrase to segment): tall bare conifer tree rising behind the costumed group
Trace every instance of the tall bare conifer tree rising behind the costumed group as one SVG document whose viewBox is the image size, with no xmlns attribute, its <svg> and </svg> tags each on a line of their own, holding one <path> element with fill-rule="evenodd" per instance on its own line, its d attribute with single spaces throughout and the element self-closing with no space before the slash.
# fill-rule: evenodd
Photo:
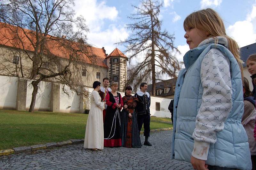
<svg viewBox="0 0 256 170">
<path fill-rule="evenodd" d="M 137 89 L 142 81 L 152 81 L 152 95 L 155 95 L 156 80 L 163 81 L 161 76 L 167 74 L 176 77 L 180 65 L 172 52 L 179 52 L 174 47 L 174 35 L 166 30 L 161 30 L 162 21 L 159 20 L 162 3 L 153 0 L 142 0 L 141 6 L 132 5 L 137 11 L 129 19 L 134 23 L 127 28 L 132 34 L 118 44 L 124 44 L 126 52 L 130 52 L 129 64 L 132 58 L 137 58 L 137 63 L 127 70 L 128 80 L 126 84 L 132 84 Z M 143 61 L 138 58 L 143 56 Z"/>
</svg>

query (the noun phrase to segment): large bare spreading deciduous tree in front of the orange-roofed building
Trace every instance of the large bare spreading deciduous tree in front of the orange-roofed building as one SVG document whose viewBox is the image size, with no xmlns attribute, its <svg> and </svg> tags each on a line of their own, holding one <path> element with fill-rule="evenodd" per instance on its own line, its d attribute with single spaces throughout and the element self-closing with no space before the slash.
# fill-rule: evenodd
<svg viewBox="0 0 256 170">
<path fill-rule="evenodd" d="M 71 90 L 81 92 L 78 88 L 82 84 L 80 70 L 85 67 L 84 63 L 93 63 L 95 59 L 91 46 L 86 43 L 85 33 L 89 30 L 85 20 L 74 17 L 72 5 L 73 0 L 0 2 L 0 41 L 13 47 L 5 53 L 0 67 L 6 74 L 31 80 L 29 112 L 34 110 L 40 81 L 60 81 Z"/>
</svg>

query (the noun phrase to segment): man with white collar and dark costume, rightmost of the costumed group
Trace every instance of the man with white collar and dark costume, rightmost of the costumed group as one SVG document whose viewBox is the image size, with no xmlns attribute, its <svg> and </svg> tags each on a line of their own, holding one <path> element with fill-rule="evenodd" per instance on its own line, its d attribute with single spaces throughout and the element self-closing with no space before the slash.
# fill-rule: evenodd
<svg viewBox="0 0 256 170">
<path fill-rule="evenodd" d="M 135 109 L 138 112 L 138 128 L 139 132 L 142 128 L 142 124 L 144 127 L 144 136 L 145 142 L 144 145 L 152 146 L 151 143 L 148 142 L 149 132 L 150 132 L 150 95 L 147 92 L 148 85 L 147 83 L 140 84 L 140 91 L 135 93 L 134 97 L 139 99 L 139 102 Z"/>
</svg>

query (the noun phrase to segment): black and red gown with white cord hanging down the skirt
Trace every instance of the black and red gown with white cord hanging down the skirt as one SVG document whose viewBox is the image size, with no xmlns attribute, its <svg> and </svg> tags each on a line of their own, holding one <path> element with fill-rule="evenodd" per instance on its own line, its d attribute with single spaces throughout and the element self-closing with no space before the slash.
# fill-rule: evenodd
<svg viewBox="0 0 256 170">
<path fill-rule="evenodd" d="M 122 146 L 120 119 L 120 110 L 123 107 L 122 97 L 118 92 L 117 96 L 108 92 L 105 99 L 108 106 L 104 121 L 104 147 Z M 116 104 L 121 104 L 121 107 L 117 108 Z"/>
</svg>

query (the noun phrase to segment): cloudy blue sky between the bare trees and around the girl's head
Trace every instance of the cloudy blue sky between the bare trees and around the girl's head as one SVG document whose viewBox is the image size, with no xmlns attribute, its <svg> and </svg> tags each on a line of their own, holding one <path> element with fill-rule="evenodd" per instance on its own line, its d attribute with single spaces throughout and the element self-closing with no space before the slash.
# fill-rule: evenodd
<svg viewBox="0 0 256 170">
<path fill-rule="evenodd" d="M 240 47 L 256 43 L 256 0 L 159 0 L 163 2 L 160 18 L 162 28 L 174 33 L 174 44 L 180 50 L 177 58 L 182 61 L 189 50 L 184 38 L 183 21 L 191 12 L 211 7 L 224 21 L 227 34 L 233 37 Z M 77 15 L 83 15 L 90 29 L 88 41 L 95 47 L 105 47 L 109 54 L 116 48 L 116 41 L 129 36 L 125 29 L 131 20 L 127 16 L 134 13 L 131 4 L 140 5 L 139 0 L 75 0 Z M 122 46 L 117 46 L 125 50 Z M 129 55 L 129 54 L 126 54 Z"/>
</svg>

